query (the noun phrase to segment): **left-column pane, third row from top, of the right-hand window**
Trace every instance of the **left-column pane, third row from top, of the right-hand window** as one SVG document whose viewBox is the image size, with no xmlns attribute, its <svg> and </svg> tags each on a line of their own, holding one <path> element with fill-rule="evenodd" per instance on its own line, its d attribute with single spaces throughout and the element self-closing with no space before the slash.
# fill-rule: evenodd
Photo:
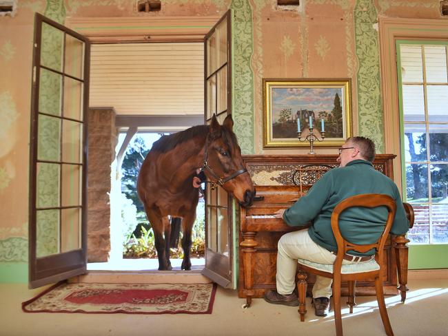
<svg viewBox="0 0 448 336">
<path fill-rule="evenodd" d="M 426 161 L 426 146 L 426 125 L 405 124 L 406 162 Z"/>
</svg>

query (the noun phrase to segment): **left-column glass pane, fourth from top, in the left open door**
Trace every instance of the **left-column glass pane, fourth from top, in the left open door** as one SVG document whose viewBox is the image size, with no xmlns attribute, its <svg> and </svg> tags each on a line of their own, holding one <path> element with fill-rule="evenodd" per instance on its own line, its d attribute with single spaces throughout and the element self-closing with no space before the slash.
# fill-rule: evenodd
<svg viewBox="0 0 448 336">
<path fill-rule="evenodd" d="M 59 207 L 59 165 L 37 163 L 36 207 Z"/>
</svg>

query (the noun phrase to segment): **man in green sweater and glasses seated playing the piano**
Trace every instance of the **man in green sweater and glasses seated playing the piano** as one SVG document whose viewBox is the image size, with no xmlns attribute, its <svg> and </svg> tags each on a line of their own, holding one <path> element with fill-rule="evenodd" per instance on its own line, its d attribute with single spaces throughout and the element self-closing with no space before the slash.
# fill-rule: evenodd
<svg viewBox="0 0 448 336">
<path fill-rule="evenodd" d="M 402 235 L 409 229 L 403 202 L 395 183 L 376 171 L 371 162 L 375 158 L 374 143 L 362 136 L 349 138 L 339 149 L 338 168 L 327 171 L 309 189 L 306 196 L 286 210 L 277 211 L 276 217 L 283 218 L 289 226 L 303 226 L 312 221 L 309 229 L 287 233 L 278 241 L 276 291 L 266 291 L 265 300 L 272 304 L 298 306 L 295 284 L 297 258 L 333 264 L 336 260 L 337 245 L 333 235 L 330 218 L 336 205 L 363 193 L 382 193 L 391 196 L 396 202 L 396 214 L 391 233 Z M 387 219 L 387 211 L 374 208 L 370 211 L 348 209 L 342 234 L 355 244 L 371 243 L 378 238 Z M 355 255 L 355 253 L 353 253 Z M 373 258 L 374 251 L 358 258 L 347 255 L 344 263 L 356 263 Z M 313 305 L 317 316 L 326 316 L 329 311 L 329 297 L 332 295 L 332 279 L 316 277 L 312 288 Z"/>
</svg>

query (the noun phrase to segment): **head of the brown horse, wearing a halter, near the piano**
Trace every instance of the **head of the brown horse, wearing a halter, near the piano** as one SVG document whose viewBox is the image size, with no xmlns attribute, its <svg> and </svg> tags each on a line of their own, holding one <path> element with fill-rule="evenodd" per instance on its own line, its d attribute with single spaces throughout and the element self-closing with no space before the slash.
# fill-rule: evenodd
<svg viewBox="0 0 448 336">
<path fill-rule="evenodd" d="M 232 193 L 243 207 L 249 207 L 254 201 L 255 188 L 241 158 L 233 125 L 231 115 L 225 118 L 223 125 L 219 125 L 216 116 L 212 117 L 205 141 L 204 172 L 212 182 Z"/>
</svg>

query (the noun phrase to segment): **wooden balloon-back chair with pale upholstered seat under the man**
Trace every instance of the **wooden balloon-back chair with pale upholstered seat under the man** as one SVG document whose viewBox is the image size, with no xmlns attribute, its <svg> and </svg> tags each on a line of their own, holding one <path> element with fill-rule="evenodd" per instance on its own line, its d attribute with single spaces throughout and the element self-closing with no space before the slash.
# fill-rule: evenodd
<svg viewBox="0 0 448 336">
<path fill-rule="evenodd" d="M 383 234 L 374 244 L 357 245 L 347 242 L 340 234 L 339 229 L 339 216 L 340 213 L 348 209 L 349 207 L 380 207 L 385 206 L 388 210 L 387 222 Z M 355 284 L 357 280 L 374 280 L 376 290 L 376 300 L 378 301 L 378 307 L 380 310 L 381 319 L 383 319 L 383 325 L 387 335 L 394 335 L 389 317 L 387 316 L 386 304 L 383 293 L 383 249 L 387 236 L 394 222 L 396 211 L 396 204 L 393 198 L 387 195 L 381 195 L 376 193 L 352 196 L 340 202 L 332 213 L 332 230 L 336 243 L 338 245 L 338 253 L 333 265 L 317 264 L 315 262 L 309 262 L 308 260 L 299 259 L 299 271 L 298 271 L 298 298 L 299 308 L 298 313 L 301 315 L 301 321 L 305 321 L 305 297 L 307 294 L 307 273 L 313 273 L 323 277 L 329 277 L 333 279 L 333 301 L 334 301 L 334 322 L 336 324 L 336 335 L 343 335 L 342 319 L 340 315 L 340 284 L 342 281 L 347 281 L 349 288 L 348 302 L 350 313 L 353 313 L 353 306 L 355 305 Z M 376 249 L 375 258 L 367 261 L 360 262 L 358 264 L 343 264 L 343 258 L 347 251 L 358 251 L 365 253 L 371 249 Z"/>
</svg>

